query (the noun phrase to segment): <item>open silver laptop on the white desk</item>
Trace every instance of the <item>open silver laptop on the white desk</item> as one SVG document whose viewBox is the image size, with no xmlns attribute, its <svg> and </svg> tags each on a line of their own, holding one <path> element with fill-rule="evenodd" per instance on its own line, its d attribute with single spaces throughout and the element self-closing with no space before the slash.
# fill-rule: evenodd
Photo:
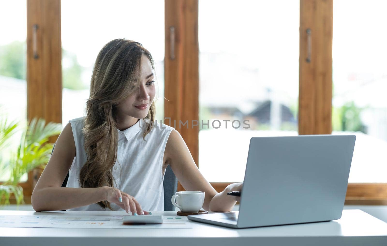
<svg viewBox="0 0 387 246">
<path fill-rule="evenodd" d="M 231 228 L 340 219 L 355 138 L 252 137 L 239 212 L 188 219 Z"/>
</svg>

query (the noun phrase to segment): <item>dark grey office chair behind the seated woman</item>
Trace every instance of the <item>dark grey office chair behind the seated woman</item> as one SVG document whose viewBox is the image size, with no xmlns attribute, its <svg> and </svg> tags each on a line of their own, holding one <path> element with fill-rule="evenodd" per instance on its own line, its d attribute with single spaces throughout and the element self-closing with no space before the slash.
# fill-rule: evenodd
<svg viewBox="0 0 387 246">
<path fill-rule="evenodd" d="M 55 147 L 55 144 L 54 144 L 54 147 Z M 52 148 L 52 152 L 54 151 L 54 147 Z M 67 173 L 67 176 L 63 181 L 62 187 L 66 187 L 69 175 L 70 174 Z M 173 173 L 171 166 L 169 165 L 165 170 L 163 186 L 164 186 L 164 211 L 175 211 L 175 206 L 173 206 L 171 203 L 171 197 L 175 195 L 177 191 L 177 178 Z M 62 210 L 62 211 L 66 211 L 66 210 Z"/>
</svg>

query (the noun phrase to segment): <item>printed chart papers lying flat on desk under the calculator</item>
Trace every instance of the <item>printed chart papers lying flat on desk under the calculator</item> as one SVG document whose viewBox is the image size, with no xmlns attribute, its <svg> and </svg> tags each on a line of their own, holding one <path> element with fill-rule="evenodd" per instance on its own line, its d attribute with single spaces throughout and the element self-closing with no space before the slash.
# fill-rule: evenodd
<svg viewBox="0 0 387 246">
<path fill-rule="evenodd" d="M 123 216 L 103 215 L 0 215 L 0 227 L 110 228 L 110 229 L 187 229 L 185 216 L 163 216 L 163 224 L 124 225 Z"/>
</svg>

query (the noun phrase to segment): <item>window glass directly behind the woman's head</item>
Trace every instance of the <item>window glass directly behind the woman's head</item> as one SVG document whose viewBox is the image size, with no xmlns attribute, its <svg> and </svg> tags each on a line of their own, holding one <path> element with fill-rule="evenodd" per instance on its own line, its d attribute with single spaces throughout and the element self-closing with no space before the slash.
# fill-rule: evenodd
<svg viewBox="0 0 387 246">
<path fill-rule="evenodd" d="M 164 1 L 61 1 L 61 22 L 63 125 L 84 116 L 98 52 L 116 38 L 137 41 L 151 52 L 159 90 L 156 119 L 163 119 Z"/>
</svg>

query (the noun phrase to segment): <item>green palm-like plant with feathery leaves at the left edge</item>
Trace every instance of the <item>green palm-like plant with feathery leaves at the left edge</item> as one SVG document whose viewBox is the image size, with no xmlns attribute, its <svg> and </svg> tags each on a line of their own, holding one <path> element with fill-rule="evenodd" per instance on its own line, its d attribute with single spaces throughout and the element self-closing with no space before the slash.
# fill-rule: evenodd
<svg viewBox="0 0 387 246">
<path fill-rule="evenodd" d="M 49 138 L 59 135 L 62 124 L 34 118 L 24 128 L 21 142 L 17 150 L 10 150 L 9 160 L 2 159 L 2 153 L 9 144 L 10 138 L 18 131 L 20 122 L 7 122 L 0 118 L 0 172 L 9 170 L 9 179 L 0 185 L 0 207 L 10 204 L 10 195 L 14 194 L 17 205 L 24 204 L 23 189 L 19 185 L 20 179 L 29 171 L 40 167 L 44 168 L 50 159 L 53 144 Z"/>
</svg>

